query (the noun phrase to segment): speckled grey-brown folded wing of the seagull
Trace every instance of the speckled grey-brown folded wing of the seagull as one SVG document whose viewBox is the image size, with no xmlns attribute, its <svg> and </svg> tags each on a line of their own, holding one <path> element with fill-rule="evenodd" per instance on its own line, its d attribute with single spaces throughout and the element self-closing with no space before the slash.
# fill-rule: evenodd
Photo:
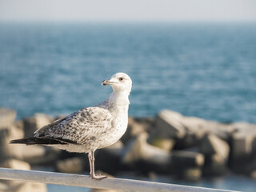
<svg viewBox="0 0 256 192">
<path fill-rule="evenodd" d="M 101 137 L 111 127 L 112 115 L 98 106 L 83 108 L 34 133 L 36 138 L 52 138 L 66 143 L 84 144 Z"/>
</svg>

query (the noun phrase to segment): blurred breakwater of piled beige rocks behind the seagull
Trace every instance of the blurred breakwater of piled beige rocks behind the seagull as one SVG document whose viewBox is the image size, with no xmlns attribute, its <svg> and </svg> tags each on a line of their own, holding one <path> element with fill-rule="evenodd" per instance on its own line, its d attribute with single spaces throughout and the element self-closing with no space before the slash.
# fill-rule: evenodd
<svg viewBox="0 0 256 192">
<path fill-rule="evenodd" d="M 14 110 L 1 109 L 0 112 L 2 167 L 30 170 L 30 165 L 52 166 L 66 173 L 89 170 L 85 154 L 70 154 L 46 146 L 9 144 L 11 139 L 32 136 L 34 130 L 61 116 L 34 114 L 15 121 Z M 255 151 L 254 124 L 225 124 L 162 110 L 155 118 L 130 117 L 126 134 L 113 146 L 98 150 L 95 163 L 96 170 L 113 175 L 131 171 L 198 181 L 203 177 L 222 176 L 231 170 L 255 178 Z M 11 186 L 18 189 L 20 184 L 15 183 Z M 44 184 L 40 185 L 42 191 L 46 189 Z"/>
</svg>

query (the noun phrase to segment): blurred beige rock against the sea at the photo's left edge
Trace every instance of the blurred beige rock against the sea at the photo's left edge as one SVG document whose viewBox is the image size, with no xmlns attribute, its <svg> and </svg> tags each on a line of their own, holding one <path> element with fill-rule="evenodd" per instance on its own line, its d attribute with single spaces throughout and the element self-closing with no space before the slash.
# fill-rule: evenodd
<svg viewBox="0 0 256 192">
<path fill-rule="evenodd" d="M 0 130 L 11 126 L 15 118 L 16 112 L 14 110 L 0 108 Z"/>
</svg>

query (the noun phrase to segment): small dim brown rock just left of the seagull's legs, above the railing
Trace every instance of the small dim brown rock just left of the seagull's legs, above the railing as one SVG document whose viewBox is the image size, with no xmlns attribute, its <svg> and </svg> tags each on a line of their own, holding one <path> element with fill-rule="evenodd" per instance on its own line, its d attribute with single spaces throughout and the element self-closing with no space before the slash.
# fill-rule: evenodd
<svg viewBox="0 0 256 192">
<path fill-rule="evenodd" d="M 85 170 L 85 160 L 86 159 L 82 157 L 66 158 L 64 160 L 59 160 L 56 163 L 55 169 L 62 173 L 80 174 Z"/>
</svg>

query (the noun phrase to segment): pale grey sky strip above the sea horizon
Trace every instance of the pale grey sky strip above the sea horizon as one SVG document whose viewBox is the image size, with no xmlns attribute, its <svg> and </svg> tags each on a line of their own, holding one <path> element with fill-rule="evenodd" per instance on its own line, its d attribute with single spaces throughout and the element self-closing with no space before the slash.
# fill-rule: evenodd
<svg viewBox="0 0 256 192">
<path fill-rule="evenodd" d="M 0 21 L 256 21 L 256 0 L 0 0 Z"/>
</svg>

